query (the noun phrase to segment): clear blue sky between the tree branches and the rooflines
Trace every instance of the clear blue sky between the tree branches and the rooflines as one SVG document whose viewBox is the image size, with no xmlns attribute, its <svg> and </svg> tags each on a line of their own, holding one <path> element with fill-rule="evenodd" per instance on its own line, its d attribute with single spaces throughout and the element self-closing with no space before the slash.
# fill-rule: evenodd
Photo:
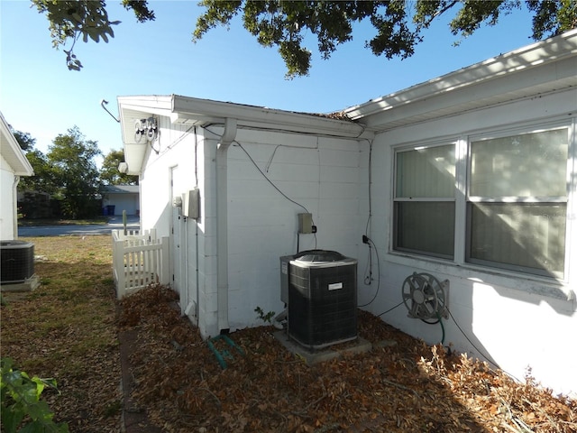
<svg viewBox="0 0 577 433">
<path fill-rule="evenodd" d="M 533 42 L 523 10 L 481 28 L 457 47 L 447 21 L 434 23 L 413 57 L 387 60 L 364 48 L 371 26 L 359 24 L 353 41 L 330 60 L 320 59 L 312 43 L 310 75 L 287 80 L 276 49 L 262 48 L 240 20 L 193 43 L 202 12 L 196 1 L 150 1 L 156 14 L 151 23 L 137 23 L 132 12 L 109 1 L 109 18 L 122 23 L 108 43 L 77 43 L 84 65 L 77 72 L 69 71 L 65 54 L 52 48 L 48 20 L 31 5 L 0 0 L 0 111 L 14 129 L 30 133 L 41 152 L 74 125 L 103 153 L 121 149 L 119 124 L 101 108 L 102 99 L 114 115 L 116 97 L 169 94 L 331 113 Z"/>
</svg>

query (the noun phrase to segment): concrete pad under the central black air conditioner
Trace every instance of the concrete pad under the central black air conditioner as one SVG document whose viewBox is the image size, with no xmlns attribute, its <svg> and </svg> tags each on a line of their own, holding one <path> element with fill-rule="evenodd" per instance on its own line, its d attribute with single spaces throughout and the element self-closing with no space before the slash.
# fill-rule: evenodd
<svg viewBox="0 0 577 433">
<path fill-rule="evenodd" d="M 299 345 L 287 335 L 286 331 L 277 331 L 274 337 L 281 345 L 284 345 L 289 352 L 298 358 L 302 359 L 304 363 L 313 365 L 323 363 L 343 355 L 353 355 L 362 352 L 369 352 L 372 348 L 371 342 L 358 336 L 356 340 L 341 343 L 337 345 L 329 345 L 323 349 L 310 349 Z"/>
</svg>

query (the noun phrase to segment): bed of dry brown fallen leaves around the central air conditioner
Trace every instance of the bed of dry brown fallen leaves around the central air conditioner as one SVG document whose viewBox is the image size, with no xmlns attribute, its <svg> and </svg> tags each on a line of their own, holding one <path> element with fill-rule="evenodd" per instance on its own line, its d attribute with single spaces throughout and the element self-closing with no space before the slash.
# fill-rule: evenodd
<svg viewBox="0 0 577 433">
<path fill-rule="evenodd" d="M 577 401 L 530 374 L 515 382 L 363 311 L 369 353 L 307 365 L 254 327 L 230 335 L 245 355 L 223 369 L 176 299 L 157 286 L 120 303 L 127 433 L 577 431 Z"/>
</svg>

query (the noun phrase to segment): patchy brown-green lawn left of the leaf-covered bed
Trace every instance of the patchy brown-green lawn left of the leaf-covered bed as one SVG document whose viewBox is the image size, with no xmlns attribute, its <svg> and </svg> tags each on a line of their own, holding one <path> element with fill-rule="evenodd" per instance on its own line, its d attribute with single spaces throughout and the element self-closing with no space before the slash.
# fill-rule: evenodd
<svg viewBox="0 0 577 433">
<path fill-rule="evenodd" d="M 71 432 L 117 432 L 121 394 L 111 237 L 25 238 L 40 261 L 41 286 L 3 293 L 2 357 L 40 377 L 55 419 Z M 42 394 L 44 395 L 44 394 Z"/>
</svg>

